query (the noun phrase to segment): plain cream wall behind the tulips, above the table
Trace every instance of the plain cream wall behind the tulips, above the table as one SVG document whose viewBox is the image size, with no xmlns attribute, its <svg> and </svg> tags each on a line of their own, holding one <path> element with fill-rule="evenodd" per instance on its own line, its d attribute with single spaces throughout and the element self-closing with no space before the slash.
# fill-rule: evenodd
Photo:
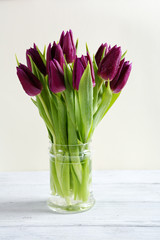
<svg viewBox="0 0 160 240">
<path fill-rule="evenodd" d="M 94 169 L 160 169 L 160 1 L 0 1 L 0 171 L 48 169 L 45 126 L 16 76 L 33 42 L 71 28 L 79 54 L 103 42 L 128 49 L 133 70 L 96 129 Z"/>
</svg>

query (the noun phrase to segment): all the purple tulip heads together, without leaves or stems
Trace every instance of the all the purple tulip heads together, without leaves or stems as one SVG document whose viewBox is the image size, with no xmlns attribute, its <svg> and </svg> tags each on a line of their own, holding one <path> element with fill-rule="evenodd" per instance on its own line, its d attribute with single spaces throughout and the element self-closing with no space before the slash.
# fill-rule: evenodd
<svg viewBox="0 0 160 240">
<path fill-rule="evenodd" d="M 107 43 L 102 44 L 95 54 L 97 64 L 97 74 L 104 81 L 106 86 L 110 81 L 110 88 L 114 93 L 122 90 L 126 84 L 131 72 L 132 64 L 122 59 L 121 47 L 110 47 Z M 42 91 L 42 83 L 33 74 L 30 58 L 44 75 L 48 76 L 49 88 L 53 93 L 64 91 L 64 65 L 73 64 L 73 88 L 78 90 L 81 77 L 88 63 L 90 65 L 93 87 L 95 86 L 95 72 L 93 63 L 89 53 L 77 57 L 76 46 L 73 41 L 72 31 L 69 30 L 61 34 L 59 43 L 49 44 L 47 48 L 46 61 L 42 58 L 42 54 L 34 44 L 33 48 L 26 51 L 27 67 L 19 64 L 17 67 L 17 75 L 25 92 L 30 96 L 36 96 Z"/>
</svg>

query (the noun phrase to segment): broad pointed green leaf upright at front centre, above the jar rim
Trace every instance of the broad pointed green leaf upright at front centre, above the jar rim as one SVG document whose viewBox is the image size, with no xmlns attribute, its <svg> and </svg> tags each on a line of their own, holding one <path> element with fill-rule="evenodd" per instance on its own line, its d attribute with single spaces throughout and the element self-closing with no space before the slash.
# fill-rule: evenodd
<svg viewBox="0 0 160 240">
<path fill-rule="evenodd" d="M 89 63 L 81 77 L 78 96 L 83 122 L 83 138 L 86 141 L 93 121 L 93 84 Z"/>
</svg>

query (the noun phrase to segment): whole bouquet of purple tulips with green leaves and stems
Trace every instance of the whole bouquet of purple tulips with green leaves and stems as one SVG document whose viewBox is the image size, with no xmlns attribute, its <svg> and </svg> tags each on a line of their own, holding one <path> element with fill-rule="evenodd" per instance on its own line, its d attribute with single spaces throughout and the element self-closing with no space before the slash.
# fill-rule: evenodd
<svg viewBox="0 0 160 240">
<path fill-rule="evenodd" d="M 93 132 L 110 107 L 119 97 L 131 72 L 131 63 L 125 61 L 121 47 L 102 44 L 91 59 L 88 46 L 86 54 L 77 56 L 78 40 L 72 31 L 64 31 L 58 43 L 49 44 L 41 52 L 36 44 L 26 51 L 27 66 L 17 60 L 17 75 L 24 91 L 39 110 L 51 144 L 65 148 L 70 156 L 79 157 L 80 149 L 70 146 L 90 142 Z M 66 148 L 68 146 L 68 148 Z M 52 153 L 56 151 L 52 149 Z M 88 165 L 74 165 L 65 169 L 56 159 L 52 163 L 53 194 L 69 202 L 72 192 L 75 199 L 86 201 L 89 181 Z M 85 176 L 84 176 L 85 175 Z M 82 180 L 84 176 L 84 179 Z M 77 193 L 77 188 L 82 188 Z"/>
</svg>

